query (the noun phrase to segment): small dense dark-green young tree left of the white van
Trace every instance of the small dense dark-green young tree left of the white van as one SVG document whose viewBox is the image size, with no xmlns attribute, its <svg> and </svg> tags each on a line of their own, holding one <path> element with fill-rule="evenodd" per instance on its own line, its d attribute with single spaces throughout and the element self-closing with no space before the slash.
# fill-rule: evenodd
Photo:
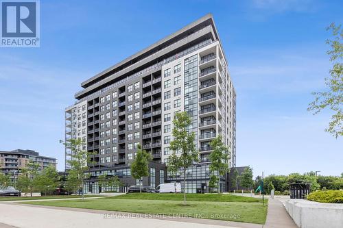
<svg viewBox="0 0 343 228">
<path fill-rule="evenodd" d="M 134 161 L 132 162 L 131 166 L 131 176 L 134 179 L 139 179 L 142 181 L 143 177 L 147 177 L 149 175 L 149 161 L 151 160 L 150 153 L 143 150 L 141 145 L 138 145 L 136 156 L 134 157 Z M 139 185 L 139 192 L 142 192 L 142 183 Z"/>
</svg>

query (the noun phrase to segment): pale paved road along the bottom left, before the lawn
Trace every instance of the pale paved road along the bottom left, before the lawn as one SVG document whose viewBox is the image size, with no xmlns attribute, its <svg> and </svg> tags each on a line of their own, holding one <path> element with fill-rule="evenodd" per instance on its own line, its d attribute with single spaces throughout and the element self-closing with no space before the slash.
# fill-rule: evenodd
<svg viewBox="0 0 343 228">
<path fill-rule="evenodd" d="M 20 228 L 233 228 L 227 225 L 209 225 L 151 218 L 104 218 L 103 213 L 80 212 L 78 210 L 60 210 L 53 209 L 51 207 L 47 208 L 34 207 L 32 205 L 16 205 L 14 203 L 0 203 L 0 227 L 10 228 L 11 226 Z"/>
</svg>

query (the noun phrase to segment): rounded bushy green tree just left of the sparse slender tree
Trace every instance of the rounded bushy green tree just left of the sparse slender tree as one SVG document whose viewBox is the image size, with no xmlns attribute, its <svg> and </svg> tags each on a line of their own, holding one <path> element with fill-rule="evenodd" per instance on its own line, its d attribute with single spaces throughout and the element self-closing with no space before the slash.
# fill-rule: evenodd
<svg viewBox="0 0 343 228">
<path fill-rule="evenodd" d="M 54 166 L 48 166 L 34 178 L 36 190 L 44 192 L 45 195 L 51 194 L 59 185 L 59 176 Z"/>
</svg>

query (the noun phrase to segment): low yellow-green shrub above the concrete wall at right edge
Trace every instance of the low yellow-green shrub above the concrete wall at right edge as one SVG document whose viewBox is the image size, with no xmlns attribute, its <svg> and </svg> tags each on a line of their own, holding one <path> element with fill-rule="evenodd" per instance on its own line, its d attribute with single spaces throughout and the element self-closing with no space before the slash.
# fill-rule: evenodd
<svg viewBox="0 0 343 228">
<path fill-rule="evenodd" d="M 307 199 L 320 203 L 343 203 L 343 190 L 327 190 L 311 192 Z"/>
</svg>

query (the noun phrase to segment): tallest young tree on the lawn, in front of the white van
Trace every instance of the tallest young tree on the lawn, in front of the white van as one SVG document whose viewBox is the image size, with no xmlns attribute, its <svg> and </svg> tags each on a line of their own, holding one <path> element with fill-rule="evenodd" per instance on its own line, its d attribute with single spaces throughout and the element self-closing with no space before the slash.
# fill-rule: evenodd
<svg viewBox="0 0 343 228">
<path fill-rule="evenodd" d="M 186 170 L 199 160 L 199 154 L 194 144 L 196 135 L 187 129 L 191 125 L 191 117 L 187 112 L 176 113 L 173 124 L 172 135 L 174 140 L 170 142 L 170 149 L 173 153 L 168 159 L 168 169 L 171 173 L 179 171 L 183 173 L 183 203 L 186 205 Z M 178 152 L 179 155 L 176 154 Z"/>
</svg>

